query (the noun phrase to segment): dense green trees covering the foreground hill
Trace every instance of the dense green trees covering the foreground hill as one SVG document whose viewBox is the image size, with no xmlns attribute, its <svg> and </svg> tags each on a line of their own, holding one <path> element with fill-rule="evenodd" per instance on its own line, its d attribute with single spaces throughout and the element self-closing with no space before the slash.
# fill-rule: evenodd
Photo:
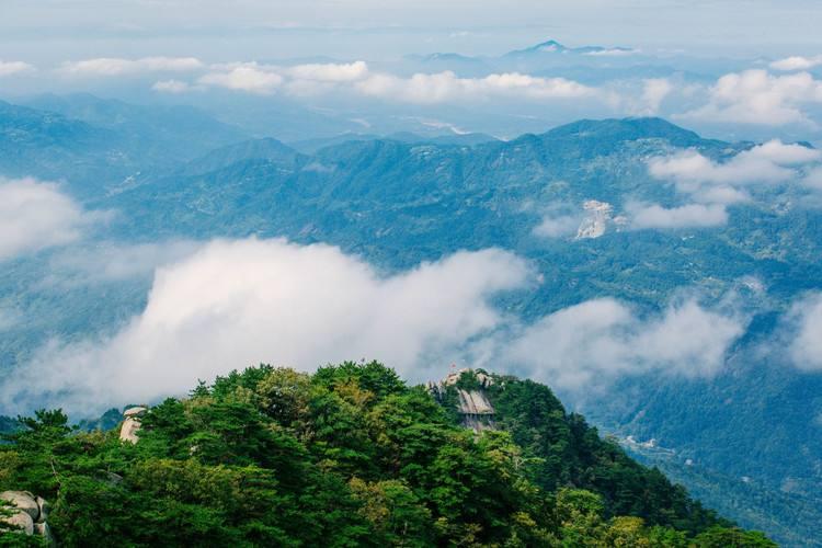
<svg viewBox="0 0 822 548">
<path fill-rule="evenodd" d="M 548 388 L 505 377 L 491 397 L 506 431 L 475 435 L 377 363 L 249 368 L 151 408 L 137 444 L 21 419 L 0 490 L 53 501 L 61 546 L 774 546 Z"/>
</svg>

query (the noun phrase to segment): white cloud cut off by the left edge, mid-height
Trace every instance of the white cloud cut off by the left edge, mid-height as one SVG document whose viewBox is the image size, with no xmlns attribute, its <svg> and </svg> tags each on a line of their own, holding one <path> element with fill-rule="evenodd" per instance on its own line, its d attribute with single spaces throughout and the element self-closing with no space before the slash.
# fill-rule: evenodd
<svg viewBox="0 0 822 548">
<path fill-rule="evenodd" d="M 0 180 L 0 261 L 78 240 L 101 217 L 84 212 L 54 183 Z"/>
</svg>

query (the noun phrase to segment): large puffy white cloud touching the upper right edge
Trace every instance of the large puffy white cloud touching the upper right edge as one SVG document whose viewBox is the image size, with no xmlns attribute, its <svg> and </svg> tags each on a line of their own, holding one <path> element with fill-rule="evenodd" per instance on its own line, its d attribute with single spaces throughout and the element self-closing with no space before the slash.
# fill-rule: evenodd
<svg viewBox="0 0 822 548">
<path fill-rule="evenodd" d="M 822 103 L 822 81 L 810 73 L 773 76 L 755 69 L 721 77 L 707 105 L 678 117 L 772 126 L 812 124 L 802 111 L 810 103 Z"/>
</svg>

